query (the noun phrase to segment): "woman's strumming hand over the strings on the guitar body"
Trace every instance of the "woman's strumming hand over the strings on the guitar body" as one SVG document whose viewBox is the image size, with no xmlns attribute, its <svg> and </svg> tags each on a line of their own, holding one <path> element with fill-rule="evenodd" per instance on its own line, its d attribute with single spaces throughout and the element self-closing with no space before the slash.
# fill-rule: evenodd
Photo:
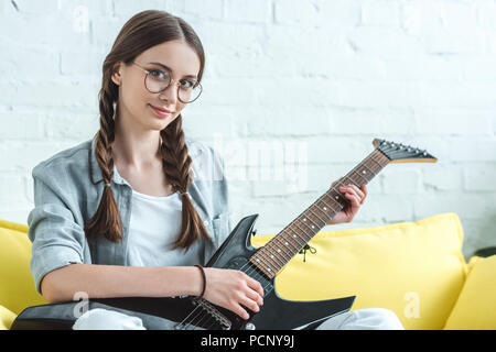
<svg viewBox="0 0 496 352">
<path fill-rule="evenodd" d="M 254 312 L 263 305 L 263 288 L 258 280 L 236 270 L 204 267 L 206 287 L 203 297 L 214 305 L 224 307 L 237 314 L 242 319 L 249 319 L 245 306 Z"/>
</svg>

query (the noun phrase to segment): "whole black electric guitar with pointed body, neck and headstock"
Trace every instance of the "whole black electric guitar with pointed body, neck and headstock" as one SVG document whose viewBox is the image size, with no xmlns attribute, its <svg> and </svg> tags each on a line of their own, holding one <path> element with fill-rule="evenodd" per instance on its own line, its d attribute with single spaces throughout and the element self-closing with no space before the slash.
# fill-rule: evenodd
<svg viewBox="0 0 496 352">
<path fill-rule="evenodd" d="M 123 297 L 89 299 L 93 305 L 115 307 L 141 314 L 139 317 L 165 318 L 173 329 L 310 329 L 325 319 L 348 311 L 355 296 L 327 300 L 295 301 L 281 298 L 274 287 L 276 275 L 306 243 L 344 207 L 348 200 L 338 191 L 343 185 L 360 188 L 389 163 L 430 162 L 436 158 L 418 148 L 384 140 L 374 140 L 376 150 L 346 176 L 316 199 L 306 210 L 272 238 L 266 245 L 255 249 L 250 234 L 258 215 L 239 221 L 206 266 L 245 272 L 263 287 L 263 306 L 248 320 L 205 299 L 181 297 Z M 62 302 L 24 309 L 11 329 L 71 329 L 76 318 L 75 305 Z M 97 307 L 97 306 L 90 306 Z M 250 311 L 247 309 L 247 311 Z M 147 327 L 147 321 L 143 321 Z M 159 324 L 160 327 L 160 324 Z"/>
</svg>

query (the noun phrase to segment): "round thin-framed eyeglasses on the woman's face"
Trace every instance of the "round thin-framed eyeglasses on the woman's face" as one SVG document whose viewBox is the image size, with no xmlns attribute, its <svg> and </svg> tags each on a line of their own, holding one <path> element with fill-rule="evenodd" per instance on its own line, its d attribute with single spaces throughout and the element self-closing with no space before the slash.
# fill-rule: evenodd
<svg viewBox="0 0 496 352">
<path fill-rule="evenodd" d="M 145 69 L 144 67 L 132 63 L 143 72 L 147 73 L 144 76 L 144 88 L 150 92 L 161 92 L 165 90 L 171 82 L 177 86 L 177 98 L 181 102 L 188 103 L 198 99 L 202 94 L 202 85 L 195 79 L 184 78 L 180 80 L 174 80 L 171 77 L 171 73 L 162 69 Z"/>
</svg>

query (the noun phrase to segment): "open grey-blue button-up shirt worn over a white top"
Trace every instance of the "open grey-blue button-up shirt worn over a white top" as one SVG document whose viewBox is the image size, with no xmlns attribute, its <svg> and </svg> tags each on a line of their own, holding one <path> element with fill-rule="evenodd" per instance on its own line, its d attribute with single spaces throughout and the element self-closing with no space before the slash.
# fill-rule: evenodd
<svg viewBox="0 0 496 352">
<path fill-rule="evenodd" d="M 224 164 L 215 151 L 186 140 L 192 158 L 193 183 L 188 195 L 213 242 L 203 241 L 204 263 L 231 231 Z M 95 139 L 62 151 L 33 168 L 34 209 L 28 217 L 32 241 L 31 273 L 36 290 L 42 278 L 73 264 L 128 265 L 127 244 L 132 211 L 132 188 L 114 166 L 111 188 L 123 227 L 123 240 L 114 243 L 99 237 L 86 240 L 84 224 L 96 212 L 105 182 L 95 157 Z"/>
</svg>

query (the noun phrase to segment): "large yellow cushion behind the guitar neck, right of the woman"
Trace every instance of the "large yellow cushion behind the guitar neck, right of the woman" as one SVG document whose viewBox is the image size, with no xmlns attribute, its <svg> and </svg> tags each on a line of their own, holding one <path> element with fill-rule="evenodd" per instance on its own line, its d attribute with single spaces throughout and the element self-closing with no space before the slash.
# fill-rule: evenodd
<svg viewBox="0 0 496 352">
<path fill-rule="evenodd" d="M 272 235 L 256 235 L 261 246 Z M 455 213 L 375 228 L 321 231 L 315 254 L 295 255 L 276 278 L 287 299 L 357 296 L 352 310 L 388 308 L 406 329 L 442 329 L 466 276 Z"/>
</svg>

